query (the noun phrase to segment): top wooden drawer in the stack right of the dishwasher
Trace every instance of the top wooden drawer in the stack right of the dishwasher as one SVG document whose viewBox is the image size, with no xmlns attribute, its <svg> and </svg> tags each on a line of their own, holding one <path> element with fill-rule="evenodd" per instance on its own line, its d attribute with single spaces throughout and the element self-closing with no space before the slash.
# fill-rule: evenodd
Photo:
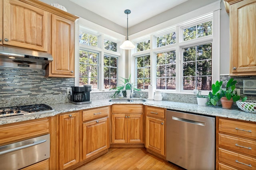
<svg viewBox="0 0 256 170">
<path fill-rule="evenodd" d="M 251 123 L 219 119 L 219 131 L 256 139 L 256 125 Z"/>
</svg>

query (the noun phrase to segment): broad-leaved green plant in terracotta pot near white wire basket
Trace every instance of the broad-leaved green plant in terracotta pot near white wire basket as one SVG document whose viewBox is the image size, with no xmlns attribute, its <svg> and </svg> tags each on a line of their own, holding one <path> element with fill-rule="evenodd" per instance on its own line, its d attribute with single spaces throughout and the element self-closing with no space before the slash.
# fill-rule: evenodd
<svg viewBox="0 0 256 170">
<path fill-rule="evenodd" d="M 222 89 L 222 81 L 219 82 L 217 80 L 215 84 L 212 84 L 212 92 L 209 92 L 208 94 L 208 104 L 216 106 L 216 104 L 220 100 L 222 108 L 230 109 L 233 105 L 233 102 L 238 101 L 240 98 L 242 102 L 246 101 L 247 97 L 243 98 L 242 96 L 239 96 L 236 91 L 234 92 L 236 88 L 236 82 L 236 80 L 230 78 L 230 80 L 228 80 L 228 83 L 226 84 L 226 88 Z"/>
</svg>

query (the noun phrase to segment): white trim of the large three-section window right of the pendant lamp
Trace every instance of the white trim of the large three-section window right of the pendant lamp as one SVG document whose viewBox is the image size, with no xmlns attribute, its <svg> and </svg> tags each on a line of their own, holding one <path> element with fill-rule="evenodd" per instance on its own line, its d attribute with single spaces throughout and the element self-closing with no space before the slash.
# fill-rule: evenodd
<svg viewBox="0 0 256 170">
<path fill-rule="evenodd" d="M 134 76 L 132 76 L 132 80 L 133 82 L 135 82 L 135 73 L 134 73 L 134 68 L 135 68 L 135 56 L 139 56 L 139 55 L 144 55 L 147 54 L 148 52 L 150 52 L 150 67 L 151 67 L 151 72 L 150 72 L 150 81 L 152 83 L 152 85 L 154 85 L 154 89 L 156 90 L 155 84 L 156 84 L 156 61 L 154 59 L 154 56 L 156 54 L 157 51 L 160 51 L 161 48 L 162 49 L 166 49 L 166 47 L 170 46 L 170 48 L 172 47 L 172 45 L 166 45 L 166 46 L 162 46 L 162 47 L 158 47 L 158 48 L 154 48 L 156 47 L 156 44 L 153 44 L 153 39 L 155 38 L 154 35 L 161 35 L 164 34 L 166 32 L 166 30 L 170 31 L 173 29 L 173 27 L 177 24 L 180 25 L 180 23 L 184 22 L 186 23 L 186 21 L 192 20 L 194 18 L 198 18 L 200 16 L 212 13 L 212 82 L 215 82 L 216 80 L 219 80 L 220 78 L 220 2 L 221 0 L 218 0 L 216 2 L 213 2 L 211 4 L 208 4 L 202 8 L 198 8 L 197 10 L 194 10 L 192 12 L 183 14 L 181 16 L 178 16 L 176 18 L 173 18 L 171 20 L 165 21 L 163 23 L 160 23 L 158 25 L 155 25 L 153 27 L 150 27 L 148 29 L 145 29 L 143 31 L 140 31 L 138 33 L 135 33 L 133 35 L 129 35 L 130 40 L 136 44 L 138 41 L 142 40 L 142 37 L 146 37 L 150 35 L 150 50 L 147 51 L 141 51 L 141 52 L 136 52 L 136 49 L 134 50 L 130 50 L 129 52 L 129 74 L 132 74 Z M 207 20 L 208 18 L 206 18 Z M 202 20 L 200 21 L 202 23 Z M 216 23 L 217 24 L 214 24 Z M 189 23 L 189 22 L 188 22 Z M 195 23 L 195 22 L 194 22 Z M 171 25 L 171 26 L 170 26 Z M 186 24 L 187 25 L 187 24 Z M 181 46 L 186 44 L 186 41 L 181 41 L 180 37 L 177 37 L 177 35 L 180 35 L 180 33 L 178 31 L 180 31 L 181 29 L 177 28 L 176 29 L 176 44 L 175 46 L 178 47 L 176 49 L 176 54 L 180 54 L 182 53 L 181 50 Z M 177 41 L 177 38 L 179 39 Z M 200 37 L 200 38 L 204 38 L 204 37 Z M 209 37 L 208 37 L 209 38 Z M 207 39 L 208 39 L 207 38 Z M 201 39 L 202 40 L 202 39 Z M 194 40 L 195 42 L 197 40 Z M 191 42 L 191 41 L 190 41 Z M 181 44 L 181 45 L 180 45 Z M 133 64 L 131 64 L 133 63 Z M 179 63 L 179 64 L 178 64 Z M 180 72 L 180 64 L 181 61 L 177 61 L 176 59 L 176 70 L 178 70 L 176 72 L 176 78 L 181 78 L 181 72 Z M 216 69 L 214 69 L 216 68 Z M 162 91 L 166 91 L 166 92 L 176 92 L 176 93 L 183 93 L 183 94 L 191 94 L 192 90 L 181 90 L 182 87 L 182 81 L 179 80 L 179 83 L 176 84 L 176 90 L 162 90 Z M 208 94 L 208 91 L 204 91 L 202 94 Z"/>
</svg>

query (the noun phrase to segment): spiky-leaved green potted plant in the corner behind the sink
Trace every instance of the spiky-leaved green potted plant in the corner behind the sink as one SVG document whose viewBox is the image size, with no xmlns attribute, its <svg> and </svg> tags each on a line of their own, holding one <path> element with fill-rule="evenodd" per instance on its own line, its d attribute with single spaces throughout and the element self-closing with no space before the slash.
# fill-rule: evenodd
<svg viewBox="0 0 256 170">
<path fill-rule="evenodd" d="M 126 89 L 127 91 L 124 91 L 124 84 L 130 82 L 131 74 L 130 74 L 129 78 L 123 78 L 123 77 L 120 77 L 120 78 L 121 78 L 121 82 L 122 82 L 123 84 L 119 84 L 118 86 L 109 89 L 109 90 L 116 90 L 115 93 L 111 96 L 112 98 L 116 98 L 116 97 L 120 94 L 120 92 L 123 94 L 123 96 L 130 96 L 130 94 L 127 94 L 126 92 L 130 92 L 131 87 L 130 87 L 130 85 L 126 85 L 126 88 L 125 88 L 125 89 Z M 133 90 L 139 91 L 139 89 L 137 89 L 137 88 L 134 87 L 134 84 L 133 84 L 133 83 L 131 83 L 131 84 L 132 84 L 132 89 L 133 89 Z"/>
</svg>

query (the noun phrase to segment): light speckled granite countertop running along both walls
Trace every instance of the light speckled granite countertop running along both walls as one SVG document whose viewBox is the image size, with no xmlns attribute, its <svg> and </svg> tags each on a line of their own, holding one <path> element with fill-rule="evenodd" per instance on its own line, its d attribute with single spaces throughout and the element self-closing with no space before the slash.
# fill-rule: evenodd
<svg viewBox="0 0 256 170">
<path fill-rule="evenodd" d="M 100 99 L 100 100 L 92 100 L 91 104 L 52 104 L 50 105 L 54 111 L 49 113 L 34 113 L 30 115 L 17 116 L 17 117 L 9 117 L 0 119 L 0 125 L 39 119 L 43 117 L 50 117 L 57 115 L 59 113 L 65 113 L 70 111 L 78 111 L 84 109 L 91 109 L 102 106 L 110 106 L 112 104 L 144 104 L 146 106 L 154 106 L 154 107 L 162 107 L 166 109 L 171 109 L 175 111 L 185 111 L 189 113 L 198 113 L 202 115 L 211 115 L 211 116 L 219 116 L 219 117 L 227 117 L 232 119 L 244 120 L 244 121 L 252 121 L 256 122 L 256 113 L 247 113 L 240 109 L 222 109 L 221 107 L 209 107 L 209 106 L 198 106 L 197 104 L 191 103 L 182 103 L 182 102 L 171 102 L 171 101 L 154 101 L 147 100 L 146 102 L 109 102 L 110 99 Z"/>
</svg>

